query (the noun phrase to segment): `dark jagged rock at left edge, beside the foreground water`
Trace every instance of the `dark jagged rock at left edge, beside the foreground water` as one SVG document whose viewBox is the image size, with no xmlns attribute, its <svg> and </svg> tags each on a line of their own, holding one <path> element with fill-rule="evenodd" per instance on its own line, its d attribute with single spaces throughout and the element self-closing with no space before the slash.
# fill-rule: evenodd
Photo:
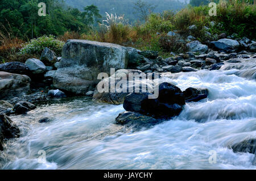
<svg viewBox="0 0 256 181">
<path fill-rule="evenodd" d="M 4 113 L 0 113 L 0 150 L 3 150 L 3 141 L 19 137 L 19 128 Z"/>
</svg>

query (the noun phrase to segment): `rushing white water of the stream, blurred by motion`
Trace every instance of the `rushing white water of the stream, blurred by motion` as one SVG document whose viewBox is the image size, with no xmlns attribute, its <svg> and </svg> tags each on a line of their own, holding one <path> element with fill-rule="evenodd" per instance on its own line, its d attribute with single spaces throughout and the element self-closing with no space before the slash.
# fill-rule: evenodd
<svg viewBox="0 0 256 181">
<path fill-rule="evenodd" d="M 256 138 L 256 82 L 237 70 L 201 70 L 166 75 L 181 90 L 206 87 L 207 99 L 187 103 L 181 114 L 133 131 L 115 124 L 122 105 L 89 98 L 42 105 L 11 116 L 20 138 L 7 142 L 2 169 L 256 169 L 254 155 L 234 153 L 230 144 Z M 42 117 L 51 123 L 38 123 Z M 46 163 L 39 163 L 39 150 Z M 209 151 L 217 162 L 209 163 Z"/>
</svg>

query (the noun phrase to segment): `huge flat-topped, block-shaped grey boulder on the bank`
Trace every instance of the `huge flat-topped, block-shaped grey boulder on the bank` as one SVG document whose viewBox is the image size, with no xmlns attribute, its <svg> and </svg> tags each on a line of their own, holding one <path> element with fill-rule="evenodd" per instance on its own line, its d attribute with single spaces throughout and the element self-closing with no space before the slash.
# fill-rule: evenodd
<svg viewBox="0 0 256 181">
<path fill-rule="evenodd" d="M 126 69 L 127 48 L 111 43 L 88 40 L 68 40 L 62 50 L 53 86 L 75 94 L 86 94 L 98 83 L 99 73 L 110 68 Z"/>
</svg>

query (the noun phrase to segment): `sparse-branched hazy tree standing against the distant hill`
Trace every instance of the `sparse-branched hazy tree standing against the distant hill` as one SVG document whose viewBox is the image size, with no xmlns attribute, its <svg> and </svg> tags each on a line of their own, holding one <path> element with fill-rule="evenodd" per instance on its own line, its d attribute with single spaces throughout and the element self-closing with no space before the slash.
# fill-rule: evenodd
<svg viewBox="0 0 256 181">
<path fill-rule="evenodd" d="M 140 16 L 142 20 L 147 21 L 148 15 L 155 10 L 156 6 L 150 3 L 138 0 L 134 3 L 135 13 Z"/>
</svg>

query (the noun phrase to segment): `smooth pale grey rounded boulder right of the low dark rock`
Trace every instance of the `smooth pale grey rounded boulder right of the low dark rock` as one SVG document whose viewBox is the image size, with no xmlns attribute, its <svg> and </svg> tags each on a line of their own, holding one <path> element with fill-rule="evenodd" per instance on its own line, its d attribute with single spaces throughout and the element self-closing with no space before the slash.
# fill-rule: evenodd
<svg viewBox="0 0 256 181">
<path fill-rule="evenodd" d="M 46 65 L 36 58 L 28 59 L 25 64 L 33 74 L 41 74 L 46 71 Z"/>
</svg>

